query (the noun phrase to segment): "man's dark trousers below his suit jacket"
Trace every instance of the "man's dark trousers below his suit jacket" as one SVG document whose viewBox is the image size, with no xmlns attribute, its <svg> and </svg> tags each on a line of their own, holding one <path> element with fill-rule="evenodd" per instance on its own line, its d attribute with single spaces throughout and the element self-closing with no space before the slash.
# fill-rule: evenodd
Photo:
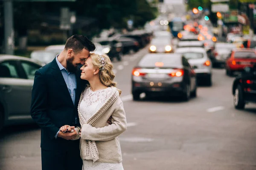
<svg viewBox="0 0 256 170">
<path fill-rule="evenodd" d="M 80 150 L 49 151 L 41 149 L 42 170 L 82 170 Z"/>
</svg>

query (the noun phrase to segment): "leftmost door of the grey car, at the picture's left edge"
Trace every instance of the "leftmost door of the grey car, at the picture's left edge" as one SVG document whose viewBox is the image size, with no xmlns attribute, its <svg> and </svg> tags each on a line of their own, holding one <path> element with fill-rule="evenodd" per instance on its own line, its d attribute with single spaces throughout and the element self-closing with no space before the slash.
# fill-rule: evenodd
<svg viewBox="0 0 256 170">
<path fill-rule="evenodd" d="M 15 60 L 0 63 L 0 98 L 7 119 L 17 119 L 25 113 L 26 80 L 18 69 Z M 26 114 L 28 114 L 26 112 Z"/>
</svg>

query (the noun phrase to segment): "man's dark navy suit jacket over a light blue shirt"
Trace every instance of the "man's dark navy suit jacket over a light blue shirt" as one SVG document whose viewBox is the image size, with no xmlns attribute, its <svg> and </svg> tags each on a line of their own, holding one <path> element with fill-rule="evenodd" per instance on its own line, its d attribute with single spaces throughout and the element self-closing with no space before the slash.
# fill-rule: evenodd
<svg viewBox="0 0 256 170">
<path fill-rule="evenodd" d="M 31 116 L 41 127 L 41 148 L 44 150 L 79 149 L 79 140 L 55 139 L 55 135 L 63 125 L 77 125 L 75 119 L 78 118 L 79 98 L 82 86 L 87 83 L 82 82 L 80 75 L 79 70 L 76 73 L 76 99 L 75 104 L 73 104 L 67 84 L 55 58 L 51 63 L 35 72 Z"/>
</svg>

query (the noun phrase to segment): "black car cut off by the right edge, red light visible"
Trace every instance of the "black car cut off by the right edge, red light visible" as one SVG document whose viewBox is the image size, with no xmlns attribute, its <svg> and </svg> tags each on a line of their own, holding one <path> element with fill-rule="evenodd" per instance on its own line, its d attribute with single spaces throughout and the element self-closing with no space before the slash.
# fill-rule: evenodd
<svg viewBox="0 0 256 170">
<path fill-rule="evenodd" d="M 244 71 L 233 81 L 233 104 L 236 109 L 244 109 L 247 103 L 256 103 L 256 64 L 245 67 Z"/>
</svg>

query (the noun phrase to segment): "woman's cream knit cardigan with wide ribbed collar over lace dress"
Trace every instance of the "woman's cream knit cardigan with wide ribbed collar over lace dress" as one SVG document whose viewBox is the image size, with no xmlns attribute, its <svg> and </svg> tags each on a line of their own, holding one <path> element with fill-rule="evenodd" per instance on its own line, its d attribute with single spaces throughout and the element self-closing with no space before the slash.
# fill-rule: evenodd
<svg viewBox="0 0 256 170">
<path fill-rule="evenodd" d="M 86 122 L 79 111 L 83 93 L 79 101 L 79 121 L 81 124 L 81 158 L 93 161 L 120 163 L 122 153 L 118 135 L 126 130 L 126 118 L 119 92 L 112 92 L 103 106 Z M 112 116 L 112 124 L 106 123 Z"/>
</svg>

